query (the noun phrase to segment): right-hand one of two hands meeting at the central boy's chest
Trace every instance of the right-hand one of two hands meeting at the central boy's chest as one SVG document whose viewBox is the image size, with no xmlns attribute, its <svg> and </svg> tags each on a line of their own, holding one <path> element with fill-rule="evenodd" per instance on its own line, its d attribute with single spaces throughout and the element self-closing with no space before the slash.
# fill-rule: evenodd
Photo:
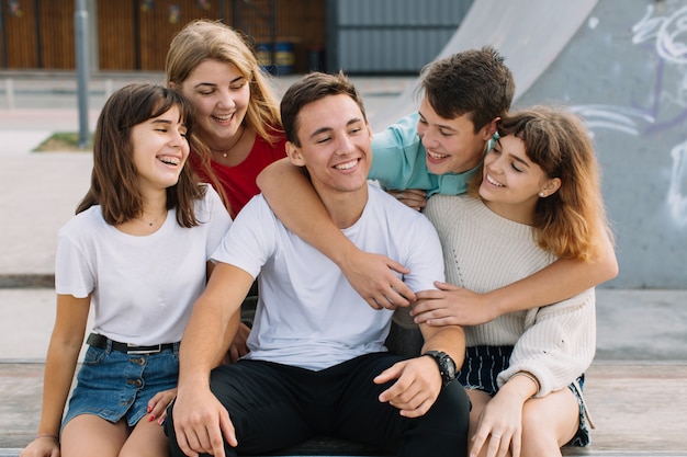
<svg viewBox="0 0 687 457">
<path fill-rule="evenodd" d="M 499 315 L 487 295 L 435 282 L 439 290 L 417 293 L 418 304 L 410 315 L 415 322 L 428 325 L 477 325 L 496 319 Z"/>
</svg>

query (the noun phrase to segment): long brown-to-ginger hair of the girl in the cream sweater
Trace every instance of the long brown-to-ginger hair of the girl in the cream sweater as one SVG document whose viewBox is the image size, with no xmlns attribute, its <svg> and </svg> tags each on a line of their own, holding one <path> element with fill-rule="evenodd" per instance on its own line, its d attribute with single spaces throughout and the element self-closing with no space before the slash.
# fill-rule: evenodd
<svg viewBox="0 0 687 457">
<path fill-rule="evenodd" d="M 539 245 L 563 259 L 598 259 L 605 244 L 601 237 L 612 241 L 612 233 L 601 197 L 599 165 L 582 121 L 563 107 L 532 106 L 505 115 L 498 135 L 520 138 L 527 157 L 548 178 L 561 180 L 558 192 L 537 203 L 533 228 Z M 475 181 L 471 192 L 481 179 Z"/>
</svg>

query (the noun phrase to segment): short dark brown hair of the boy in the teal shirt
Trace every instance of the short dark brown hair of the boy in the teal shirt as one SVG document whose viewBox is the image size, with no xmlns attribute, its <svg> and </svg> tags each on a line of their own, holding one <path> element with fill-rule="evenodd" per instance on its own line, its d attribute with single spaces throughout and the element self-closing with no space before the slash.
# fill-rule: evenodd
<svg viewBox="0 0 687 457">
<path fill-rule="evenodd" d="M 469 114 L 475 133 L 506 114 L 515 95 L 513 73 L 491 46 L 436 60 L 421 75 L 420 88 L 437 114 L 447 119 Z"/>
</svg>

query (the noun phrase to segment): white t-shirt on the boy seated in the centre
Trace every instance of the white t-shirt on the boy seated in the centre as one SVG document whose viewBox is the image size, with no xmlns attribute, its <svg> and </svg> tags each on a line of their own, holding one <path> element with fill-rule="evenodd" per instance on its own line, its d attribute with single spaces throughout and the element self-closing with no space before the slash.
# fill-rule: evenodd
<svg viewBox="0 0 687 457">
<path fill-rule="evenodd" d="M 344 233 L 360 249 L 410 270 L 410 289 L 443 281 L 439 238 L 421 214 L 369 185 L 360 219 Z M 213 259 L 259 276 L 259 301 L 247 358 L 323 369 L 386 351 L 393 311 L 375 310 L 339 267 L 289 231 L 261 195 L 241 209 Z"/>
</svg>

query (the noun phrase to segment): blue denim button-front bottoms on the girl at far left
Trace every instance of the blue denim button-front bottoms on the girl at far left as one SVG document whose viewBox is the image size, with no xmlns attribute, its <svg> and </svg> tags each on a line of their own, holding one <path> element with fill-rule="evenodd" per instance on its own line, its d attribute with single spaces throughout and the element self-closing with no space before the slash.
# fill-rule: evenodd
<svg viewBox="0 0 687 457">
<path fill-rule="evenodd" d="M 89 346 L 77 375 L 63 427 L 80 414 L 92 414 L 129 426 L 146 415 L 148 401 L 177 387 L 179 343 L 173 350 L 151 354 L 126 354 Z"/>
</svg>

